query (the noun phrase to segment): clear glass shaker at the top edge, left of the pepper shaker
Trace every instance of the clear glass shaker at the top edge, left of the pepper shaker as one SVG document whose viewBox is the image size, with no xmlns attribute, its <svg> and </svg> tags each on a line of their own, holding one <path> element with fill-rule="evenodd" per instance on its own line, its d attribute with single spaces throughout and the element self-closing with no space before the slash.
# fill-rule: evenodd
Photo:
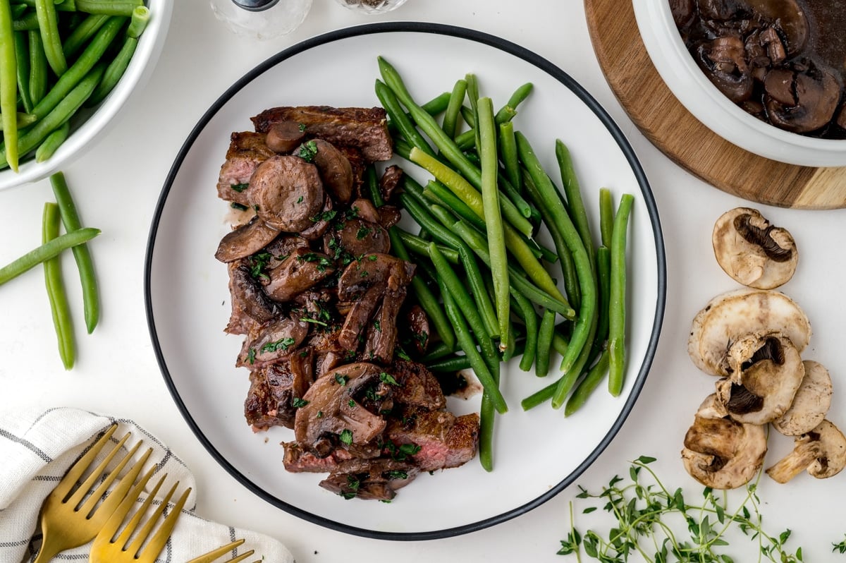
<svg viewBox="0 0 846 563">
<path fill-rule="evenodd" d="M 211 10 L 238 35 L 271 39 L 303 23 L 312 0 L 211 0 Z"/>
</svg>

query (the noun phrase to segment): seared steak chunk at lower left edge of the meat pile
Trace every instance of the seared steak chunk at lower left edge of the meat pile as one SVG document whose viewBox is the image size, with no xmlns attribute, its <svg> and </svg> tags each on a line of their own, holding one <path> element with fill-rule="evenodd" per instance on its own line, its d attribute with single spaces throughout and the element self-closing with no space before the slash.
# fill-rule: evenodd
<svg viewBox="0 0 846 563">
<path fill-rule="evenodd" d="M 244 417 L 254 430 L 272 426 L 294 428 L 297 407 L 311 384 L 312 352 L 299 350 L 293 356 L 250 372 L 250 390 L 244 400 Z"/>
</svg>

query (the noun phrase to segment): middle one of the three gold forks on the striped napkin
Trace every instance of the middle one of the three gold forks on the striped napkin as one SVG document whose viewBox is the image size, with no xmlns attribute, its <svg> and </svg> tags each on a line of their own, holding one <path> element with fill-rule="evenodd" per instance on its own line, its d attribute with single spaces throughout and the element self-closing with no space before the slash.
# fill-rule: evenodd
<svg viewBox="0 0 846 563">
<path fill-rule="evenodd" d="M 117 510 L 113 512 L 106 525 L 97 533 L 96 538 L 94 538 L 94 544 L 91 546 L 91 556 L 89 557 L 91 563 L 153 563 L 157 556 L 162 553 L 162 549 L 168 543 L 168 538 L 171 532 L 173 532 L 173 527 L 176 526 L 176 521 L 179 519 L 185 501 L 188 500 L 188 495 L 191 492 L 190 488 L 184 490 L 179 500 L 173 505 L 173 511 L 168 516 L 165 516 L 161 526 L 152 535 L 149 543 L 146 543 L 147 538 L 164 513 L 168 502 L 170 502 L 173 493 L 176 492 L 176 488 L 179 485 L 179 482 L 173 483 L 173 487 L 165 495 L 162 504 L 152 511 L 150 517 L 139 529 L 141 520 L 152 505 L 153 499 L 156 497 L 159 488 L 162 487 L 165 478 L 168 477 L 167 474 L 162 475 L 162 478 L 158 480 L 156 486 L 153 487 L 151 493 L 141 504 L 140 508 L 129 518 L 129 522 L 127 522 L 124 530 L 118 535 L 118 529 L 127 516 L 129 516 L 129 512 L 132 511 L 133 506 L 140 500 L 140 494 L 144 491 L 146 483 L 155 471 L 156 467 L 154 466 L 150 471 L 146 472 L 144 477 L 141 477 L 140 481 L 135 484 L 135 487 L 129 491 L 129 494 L 120 503 Z"/>
</svg>

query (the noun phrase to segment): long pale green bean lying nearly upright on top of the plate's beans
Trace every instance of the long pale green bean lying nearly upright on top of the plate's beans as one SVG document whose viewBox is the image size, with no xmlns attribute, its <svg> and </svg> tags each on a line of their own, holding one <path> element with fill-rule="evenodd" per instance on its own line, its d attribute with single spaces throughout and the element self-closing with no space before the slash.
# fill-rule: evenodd
<svg viewBox="0 0 846 563">
<path fill-rule="evenodd" d="M 505 250 L 503 216 L 499 212 L 499 190 L 497 189 L 499 158 L 491 98 L 479 98 L 477 108 L 481 140 L 481 199 L 485 213 L 487 246 L 491 255 L 494 302 L 497 306 L 499 321 L 499 349 L 506 350 L 510 345 L 508 319 L 511 317 L 511 299 L 508 296 L 508 256 Z"/>
</svg>

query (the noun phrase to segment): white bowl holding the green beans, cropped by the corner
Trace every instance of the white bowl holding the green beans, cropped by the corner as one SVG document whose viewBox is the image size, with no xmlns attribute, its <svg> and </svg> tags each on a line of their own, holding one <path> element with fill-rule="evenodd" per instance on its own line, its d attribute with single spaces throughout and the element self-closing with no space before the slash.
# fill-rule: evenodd
<svg viewBox="0 0 846 563">
<path fill-rule="evenodd" d="M 99 106 L 86 110 L 80 109 L 71 119 L 71 133 L 67 140 L 59 146 L 57 151 L 43 163 L 36 163 L 30 154 L 23 158 L 19 171 L 14 173 L 9 168 L 0 170 L 0 190 L 16 185 L 24 185 L 47 178 L 50 174 L 60 170 L 68 163 L 85 152 L 94 144 L 97 135 L 108 129 L 118 117 L 121 108 L 136 90 L 144 86 L 156 66 L 159 54 L 162 52 L 165 37 L 168 35 L 173 0 L 147 0 L 150 8 L 150 22 L 138 40 L 135 54 L 121 77 L 117 86 L 109 93 Z"/>
</svg>

